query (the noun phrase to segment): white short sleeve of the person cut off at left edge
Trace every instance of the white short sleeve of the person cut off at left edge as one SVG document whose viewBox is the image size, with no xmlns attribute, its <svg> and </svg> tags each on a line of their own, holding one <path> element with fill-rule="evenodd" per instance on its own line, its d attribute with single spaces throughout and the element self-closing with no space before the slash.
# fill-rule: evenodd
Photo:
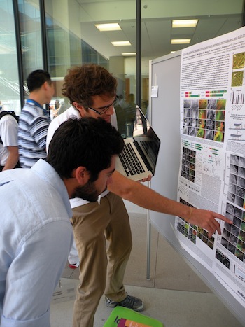
<svg viewBox="0 0 245 327">
<path fill-rule="evenodd" d="M 18 146 L 18 123 L 10 115 L 0 120 L 0 136 L 4 147 Z"/>
</svg>

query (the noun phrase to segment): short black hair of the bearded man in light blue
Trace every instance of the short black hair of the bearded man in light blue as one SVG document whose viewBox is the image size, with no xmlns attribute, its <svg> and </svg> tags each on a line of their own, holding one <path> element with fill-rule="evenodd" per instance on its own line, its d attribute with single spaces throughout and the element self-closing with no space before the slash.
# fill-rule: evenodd
<svg viewBox="0 0 245 327">
<path fill-rule="evenodd" d="M 86 167 L 93 180 L 110 167 L 111 157 L 122 152 L 120 133 L 101 118 L 70 118 L 55 131 L 48 148 L 47 161 L 59 176 L 70 178 L 73 169 Z"/>
</svg>

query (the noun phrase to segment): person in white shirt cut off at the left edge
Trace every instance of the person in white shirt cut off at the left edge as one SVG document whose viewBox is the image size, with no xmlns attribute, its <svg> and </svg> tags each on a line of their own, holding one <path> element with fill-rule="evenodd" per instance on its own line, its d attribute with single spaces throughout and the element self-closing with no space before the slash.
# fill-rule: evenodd
<svg viewBox="0 0 245 327">
<path fill-rule="evenodd" d="M 6 111 L 0 102 L 0 172 L 20 167 L 18 151 L 18 122 L 10 114 L 1 116 Z"/>
</svg>

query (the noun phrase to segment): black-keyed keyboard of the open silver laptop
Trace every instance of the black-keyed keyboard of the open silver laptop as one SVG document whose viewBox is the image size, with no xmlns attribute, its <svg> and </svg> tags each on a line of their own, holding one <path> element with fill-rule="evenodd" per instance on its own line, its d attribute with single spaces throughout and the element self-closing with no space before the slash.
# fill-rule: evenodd
<svg viewBox="0 0 245 327">
<path fill-rule="evenodd" d="M 137 155 L 134 153 L 132 144 L 125 144 L 123 153 L 119 155 L 119 158 L 123 164 L 123 168 L 125 169 L 127 176 L 137 175 L 145 172 L 145 169 L 142 167 L 141 162 L 139 162 Z"/>
</svg>

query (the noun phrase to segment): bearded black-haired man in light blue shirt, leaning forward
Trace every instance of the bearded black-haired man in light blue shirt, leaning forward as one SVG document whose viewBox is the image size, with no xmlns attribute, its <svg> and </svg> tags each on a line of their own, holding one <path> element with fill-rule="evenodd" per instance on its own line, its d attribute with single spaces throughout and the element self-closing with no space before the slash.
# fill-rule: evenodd
<svg viewBox="0 0 245 327">
<path fill-rule="evenodd" d="M 123 139 L 104 120 L 62 124 L 47 160 L 0 174 L 0 325 L 49 327 L 50 301 L 73 231 L 69 197 L 97 202 Z"/>
</svg>

